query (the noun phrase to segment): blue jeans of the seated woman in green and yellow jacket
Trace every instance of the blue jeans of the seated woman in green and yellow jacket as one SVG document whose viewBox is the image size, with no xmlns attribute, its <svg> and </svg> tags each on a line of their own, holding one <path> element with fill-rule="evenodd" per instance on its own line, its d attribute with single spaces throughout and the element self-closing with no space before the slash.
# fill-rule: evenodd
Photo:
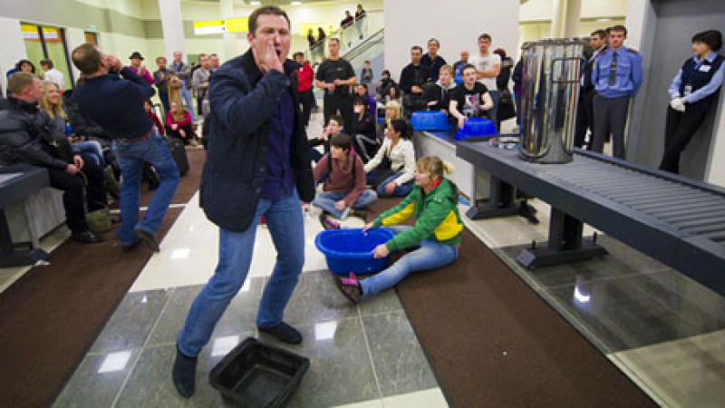
<svg viewBox="0 0 725 408">
<path fill-rule="evenodd" d="M 394 226 L 389 228 L 395 234 L 400 234 L 411 227 Z M 377 275 L 362 279 L 360 281 L 362 296 L 373 296 L 389 287 L 394 287 L 411 272 L 445 267 L 457 257 L 459 257 L 459 248 L 457 246 L 441 244 L 434 239 L 424 239 L 420 242 L 418 249 L 403 255 L 397 262 Z"/>
</svg>

